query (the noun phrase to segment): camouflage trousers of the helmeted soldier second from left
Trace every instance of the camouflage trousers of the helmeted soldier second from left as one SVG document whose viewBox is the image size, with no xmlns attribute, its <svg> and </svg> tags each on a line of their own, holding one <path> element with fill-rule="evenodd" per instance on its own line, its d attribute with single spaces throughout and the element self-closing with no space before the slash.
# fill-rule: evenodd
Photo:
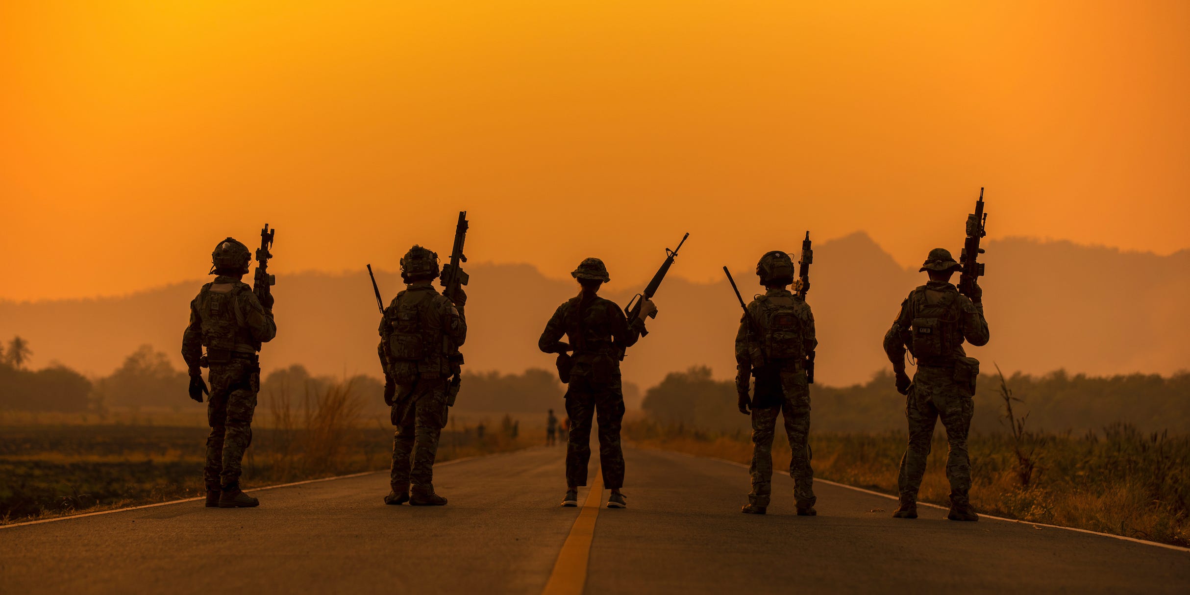
<svg viewBox="0 0 1190 595">
<path fill-rule="evenodd" d="M 438 438 L 446 426 L 446 380 L 421 378 L 407 397 L 393 406 L 393 466 L 389 483 L 432 486 Z"/>
</svg>

